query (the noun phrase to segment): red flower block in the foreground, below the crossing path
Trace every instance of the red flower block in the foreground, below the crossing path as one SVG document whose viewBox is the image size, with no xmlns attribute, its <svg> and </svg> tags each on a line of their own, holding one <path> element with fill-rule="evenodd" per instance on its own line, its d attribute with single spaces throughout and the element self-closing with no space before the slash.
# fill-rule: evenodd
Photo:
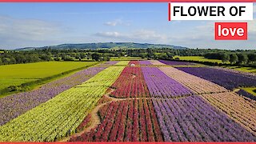
<svg viewBox="0 0 256 144">
<path fill-rule="evenodd" d="M 102 123 L 70 142 L 145 142 L 162 141 L 152 100 L 111 102 L 99 111 Z"/>
</svg>

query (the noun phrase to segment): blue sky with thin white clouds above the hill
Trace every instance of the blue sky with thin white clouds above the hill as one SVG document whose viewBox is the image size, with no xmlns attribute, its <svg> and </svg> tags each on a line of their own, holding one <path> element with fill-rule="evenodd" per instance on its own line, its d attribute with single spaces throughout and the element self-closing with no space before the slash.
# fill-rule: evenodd
<svg viewBox="0 0 256 144">
<path fill-rule="evenodd" d="M 248 22 L 247 41 L 215 41 L 214 22 L 168 22 L 167 8 L 155 2 L 0 3 L 0 49 L 82 42 L 256 49 L 256 20 Z"/>
</svg>

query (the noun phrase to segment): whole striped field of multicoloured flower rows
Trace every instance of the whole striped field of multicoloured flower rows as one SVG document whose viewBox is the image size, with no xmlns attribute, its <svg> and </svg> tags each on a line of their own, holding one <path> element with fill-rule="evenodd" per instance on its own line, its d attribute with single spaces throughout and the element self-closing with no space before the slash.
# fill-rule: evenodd
<svg viewBox="0 0 256 144">
<path fill-rule="evenodd" d="M 110 61 L 0 98 L 0 142 L 256 142 L 256 76 L 195 65 Z"/>
</svg>

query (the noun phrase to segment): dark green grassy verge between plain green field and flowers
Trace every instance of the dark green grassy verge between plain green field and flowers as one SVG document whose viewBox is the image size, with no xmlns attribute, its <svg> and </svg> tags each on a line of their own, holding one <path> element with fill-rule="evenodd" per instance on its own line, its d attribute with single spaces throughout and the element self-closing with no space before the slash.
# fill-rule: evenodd
<svg viewBox="0 0 256 144">
<path fill-rule="evenodd" d="M 10 95 L 10 94 L 16 94 L 19 92 L 25 92 L 25 91 L 29 91 L 29 90 L 34 90 L 36 88 L 38 88 L 39 86 L 42 86 L 48 82 L 52 82 L 56 79 L 59 78 L 64 78 L 66 76 L 69 76 L 71 74 L 74 74 L 75 72 L 78 72 L 79 70 L 83 70 L 85 68 L 89 68 L 91 66 L 95 66 L 100 62 L 88 65 L 88 66 L 82 66 L 73 70 L 67 70 L 65 72 L 62 72 L 60 74 L 54 74 L 52 76 L 46 77 L 46 78 L 41 78 L 35 81 L 31 81 L 31 82 L 25 82 L 22 83 L 21 85 L 18 86 L 9 86 L 7 88 L 4 88 L 2 90 L 0 90 L 0 98 L 5 97 L 6 95 Z"/>
</svg>

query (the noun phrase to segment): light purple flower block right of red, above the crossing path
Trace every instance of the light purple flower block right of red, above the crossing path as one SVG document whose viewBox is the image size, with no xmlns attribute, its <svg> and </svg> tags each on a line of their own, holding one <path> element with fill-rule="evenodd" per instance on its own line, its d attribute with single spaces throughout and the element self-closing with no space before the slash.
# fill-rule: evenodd
<svg viewBox="0 0 256 144">
<path fill-rule="evenodd" d="M 193 94 L 179 82 L 168 77 L 157 67 L 142 67 L 146 85 L 153 97 L 177 97 Z"/>
</svg>

